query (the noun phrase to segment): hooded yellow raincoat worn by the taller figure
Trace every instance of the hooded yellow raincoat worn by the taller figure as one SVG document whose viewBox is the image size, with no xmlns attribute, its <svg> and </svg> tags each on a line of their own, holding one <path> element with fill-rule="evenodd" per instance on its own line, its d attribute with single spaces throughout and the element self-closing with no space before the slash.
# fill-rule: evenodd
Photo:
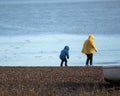
<svg viewBox="0 0 120 96">
<path fill-rule="evenodd" d="M 98 51 L 94 43 L 94 35 L 90 35 L 89 38 L 84 42 L 82 53 L 84 54 L 93 54 L 94 51 Z"/>
</svg>

